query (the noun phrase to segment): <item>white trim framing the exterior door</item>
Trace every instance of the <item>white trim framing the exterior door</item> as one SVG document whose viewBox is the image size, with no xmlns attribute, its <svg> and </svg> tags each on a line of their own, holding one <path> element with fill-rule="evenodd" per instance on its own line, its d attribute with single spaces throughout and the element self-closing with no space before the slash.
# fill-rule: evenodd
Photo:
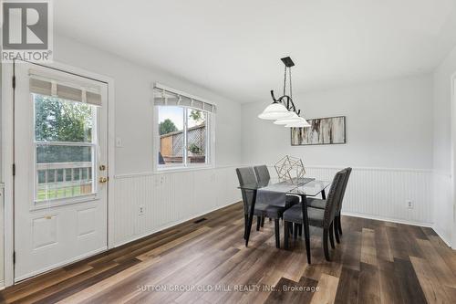
<svg viewBox="0 0 456 304">
<path fill-rule="evenodd" d="M 113 195 L 112 182 L 115 175 L 115 134 L 114 134 L 114 79 L 100 75 L 83 68 L 76 68 L 66 64 L 54 62 L 52 64 L 38 64 L 45 68 L 54 68 L 62 72 L 74 74 L 80 77 L 98 80 L 108 84 L 108 172 L 110 177 L 107 197 L 107 247 L 109 249 L 109 198 Z M 5 287 L 15 284 L 13 265 L 14 255 L 14 192 L 13 192 L 13 162 L 14 162 L 14 111 L 13 111 L 13 64 L 3 64 L 2 68 L 2 176 L 5 182 Z M 6 149 L 8 147 L 8 149 Z M 83 257 L 81 257 L 83 258 Z"/>
</svg>

